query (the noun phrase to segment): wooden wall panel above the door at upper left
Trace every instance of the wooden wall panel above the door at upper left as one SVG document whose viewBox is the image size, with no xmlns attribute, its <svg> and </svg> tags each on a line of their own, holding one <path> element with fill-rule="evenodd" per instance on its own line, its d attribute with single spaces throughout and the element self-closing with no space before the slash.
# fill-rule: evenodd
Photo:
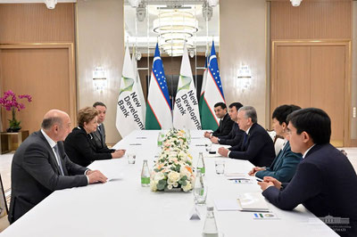
<svg viewBox="0 0 357 237">
<path fill-rule="evenodd" d="M 0 4 L 0 44 L 74 42 L 74 4 Z"/>
</svg>

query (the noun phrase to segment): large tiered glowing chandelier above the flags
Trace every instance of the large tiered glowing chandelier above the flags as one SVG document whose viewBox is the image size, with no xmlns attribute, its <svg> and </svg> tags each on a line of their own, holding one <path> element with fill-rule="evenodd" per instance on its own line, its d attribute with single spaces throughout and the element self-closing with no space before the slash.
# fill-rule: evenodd
<svg viewBox="0 0 357 237">
<path fill-rule="evenodd" d="M 198 31 L 198 21 L 191 12 L 179 10 L 161 12 L 154 20 L 154 32 L 159 34 L 161 48 L 170 56 L 183 54 L 184 44 L 193 48 L 192 37 Z"/>
</svg>

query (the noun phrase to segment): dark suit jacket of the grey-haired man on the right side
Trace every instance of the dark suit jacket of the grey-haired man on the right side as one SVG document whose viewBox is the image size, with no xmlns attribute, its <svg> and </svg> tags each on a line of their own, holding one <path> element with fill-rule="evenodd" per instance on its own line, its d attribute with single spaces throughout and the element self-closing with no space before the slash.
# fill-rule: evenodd
<svg viewBox="0 0 357 237">
<path fill-rule="evenodd" d="M 229 157 L 247 159 L 256 167 L 270 167 L 275 158 L 274 143 L 267 131 L 257 123 L 249 129 L 246 142 L 229 148 Z"/>
</svg>

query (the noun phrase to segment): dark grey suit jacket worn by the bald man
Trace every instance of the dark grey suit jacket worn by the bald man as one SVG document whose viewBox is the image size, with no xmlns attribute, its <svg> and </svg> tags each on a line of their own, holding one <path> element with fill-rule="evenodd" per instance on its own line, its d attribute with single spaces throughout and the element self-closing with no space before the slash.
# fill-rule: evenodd
<svg viewBox="0 0 357 237">
<path fill-rule="evenodd" d="M 12 197 L 9 221 L 13 223 L 55 190 L 87 185 L 87 168 L 68 159 L 58 142 L 64 176 L 60 174 L 54 150 L 41 131 L 21 143 L 12 158 Z"/>
</svg>

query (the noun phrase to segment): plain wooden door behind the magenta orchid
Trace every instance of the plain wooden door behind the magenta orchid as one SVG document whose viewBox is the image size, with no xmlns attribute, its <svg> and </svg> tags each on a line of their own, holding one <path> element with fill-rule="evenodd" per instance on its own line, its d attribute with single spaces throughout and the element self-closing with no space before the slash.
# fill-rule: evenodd
<svg viewBox="0 0 357 237">
<path fill-rule="evenodd" d="M 59 109 L 71 114 L 69 50 L 66 48 L 2 49 L 2 90 L 30 94 L 33 102 L 17 112 L 22 130 L 39 129 L 47 110 Z M 11 112 L 3 109 L 3 127 L 9 127 Z"/>
</svg>

